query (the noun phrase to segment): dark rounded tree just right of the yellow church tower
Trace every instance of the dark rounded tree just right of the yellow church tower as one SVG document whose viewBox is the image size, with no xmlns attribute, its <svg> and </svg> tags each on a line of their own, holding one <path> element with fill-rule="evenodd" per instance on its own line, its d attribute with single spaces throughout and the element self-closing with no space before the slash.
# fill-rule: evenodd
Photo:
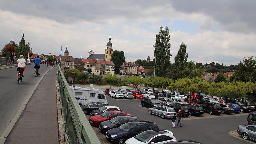
<svg viewBox="0 0 256 144">
<path fill-rule="evenodd" d="M 111 61 L 115 64 L 115 73 L 119 73 L 120 66 L 125 62 L 124 52 L 123 51 L 113 51 L 111 55 Z"/>
</svg>

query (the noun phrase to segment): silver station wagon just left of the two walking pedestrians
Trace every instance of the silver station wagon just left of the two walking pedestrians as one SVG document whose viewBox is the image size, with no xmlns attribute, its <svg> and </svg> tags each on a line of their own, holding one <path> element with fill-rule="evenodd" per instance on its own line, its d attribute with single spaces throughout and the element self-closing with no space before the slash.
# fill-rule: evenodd
<svg viewBox="0 0 256 144">
<path fill-rule="evenodd" d="M 168 106 L 158 106 L 148 109 L 149 114 L 161 116 L 161 118 L 172 118 L 176 111 Z"/>
</svg>

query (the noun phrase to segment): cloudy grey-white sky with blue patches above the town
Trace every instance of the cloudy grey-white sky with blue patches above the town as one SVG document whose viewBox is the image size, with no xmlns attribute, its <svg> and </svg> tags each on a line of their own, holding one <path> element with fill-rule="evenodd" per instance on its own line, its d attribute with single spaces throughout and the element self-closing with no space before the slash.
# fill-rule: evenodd
<svg viewBox="0 0 256 144">
<path fill-rule="evenodd" d="M 171 62 L 181 42 L 188 60 L 237 64 L 255 56 L 254 0 L 0 0 L 0 48 L 16 43 L 25 31 L 34 53 L 60 53 L 68 46 L 74 58 L 89 50 L 104 53 L 111 33 L 114 50 L 126 61 L 154 58 L 155 35 L 170 29 Z"/>
</svg>

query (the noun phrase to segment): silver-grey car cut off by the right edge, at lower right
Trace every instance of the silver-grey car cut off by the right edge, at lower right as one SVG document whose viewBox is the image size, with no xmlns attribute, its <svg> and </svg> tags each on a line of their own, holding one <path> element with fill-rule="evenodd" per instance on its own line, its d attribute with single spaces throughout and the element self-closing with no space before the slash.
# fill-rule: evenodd
<svg viewBox="0 0 256 144">
<path fill-rule="evenodd" d="M 241 135 L 243 139 L 256 141 L 256 125 L 239 125 L 237 133 Z"/>
</svg>

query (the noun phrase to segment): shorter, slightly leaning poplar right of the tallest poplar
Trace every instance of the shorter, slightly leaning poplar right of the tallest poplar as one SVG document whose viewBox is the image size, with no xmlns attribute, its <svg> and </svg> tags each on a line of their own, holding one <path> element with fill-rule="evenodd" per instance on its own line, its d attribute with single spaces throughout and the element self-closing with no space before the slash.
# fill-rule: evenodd
<svg viewBox="0 0 256 144">
<path fill-rule="evenodd" d="M 187 52 L 187 45 L 183 44 L 180 45 L 180 49 L 178 50 L 178 54 L 174 58 L 174 67 L 173 67 L 173 79 L 178 79 L 181 77 L 180 72 L 185 69 L 185 64 L 187 62 L 188 53 Z"/>
</svg>

